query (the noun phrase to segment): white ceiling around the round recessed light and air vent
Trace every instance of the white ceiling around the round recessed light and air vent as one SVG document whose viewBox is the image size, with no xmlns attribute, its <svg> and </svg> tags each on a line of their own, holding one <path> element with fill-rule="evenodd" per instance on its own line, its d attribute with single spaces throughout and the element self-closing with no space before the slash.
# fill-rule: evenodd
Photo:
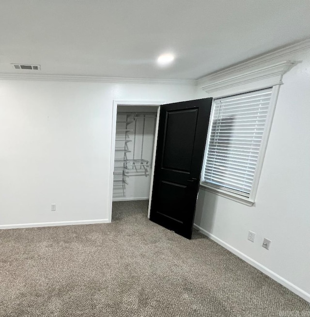
<svg viewBox="0 0 310 317">
<path fill-rule="evenodd" d="M 310 0 L 0 1 L 0 73 L 198 79 L 309 37 Z"/>
</svg>

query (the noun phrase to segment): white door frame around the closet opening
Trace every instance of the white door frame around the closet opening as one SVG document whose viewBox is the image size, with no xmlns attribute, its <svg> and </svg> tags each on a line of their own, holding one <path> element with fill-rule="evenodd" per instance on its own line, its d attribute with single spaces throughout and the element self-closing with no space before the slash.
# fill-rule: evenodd
<svg viewBox="0 0 310 317">
<path fill-rule="evenodd" d="M 116 138 L 116 117 L 117 117 L 117 107 L 118 106 L 150 106 L 157 107 L 157 117 L 156 117 L 156 127 L 155 127 L 155 137 L 154 137 L 154 152 L 153 152 L 153 161 L 152 161 L 152 171 L 151 171 L 151 187 L 150 187 L 150 198 L 148 206 L 148 215 L 150 218 L 151 210 L 151 200 L 153 193 L 153 179 L 154 179 L 154 167 L 155 167 L 155 155 L 157 147 L 157 135 L 158 135 L 158 126 L 159 126 L 159 112 L 160 106 L 165 104 L 165 101 L 162 100 L 113 100 L 112 108 L 112 131 L 111 131 L 111 160 L 110 160 L 110 177 L 109 177 L 109 205 L 108 205 L 108 222 L 112 221 L 112 202 L 113 202 L 113 171 L 114 171 L 114 158 L 115 158 L 115 138 Z"/>
</svg>

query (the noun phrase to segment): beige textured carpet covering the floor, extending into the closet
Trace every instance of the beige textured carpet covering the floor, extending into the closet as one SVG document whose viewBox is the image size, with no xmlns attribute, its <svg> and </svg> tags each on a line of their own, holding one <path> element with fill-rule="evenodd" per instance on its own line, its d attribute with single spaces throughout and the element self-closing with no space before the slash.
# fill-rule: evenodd
<svg viewBox="0 0 310 317">
<path fill-rule="evenodd" d="M 187 240 L 146 214 L 146 201 L 116 202 L 110 224 L 0 231 L 0 316 L 310 312 L 306 301 L 204 235 Z"/>
</svg>

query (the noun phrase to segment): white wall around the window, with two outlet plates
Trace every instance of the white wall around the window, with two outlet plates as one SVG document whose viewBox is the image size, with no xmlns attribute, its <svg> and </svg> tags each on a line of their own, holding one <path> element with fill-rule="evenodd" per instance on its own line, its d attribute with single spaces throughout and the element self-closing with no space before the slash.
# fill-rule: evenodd
<svg viewBox="0 0 310 317">
<path fill-rule="evenodd" d="M 195 224 L 310 300 L 310 52 L 292 59 L 302 63 L 283 76 L 255 206 L 201 189 Z"/>
</svg>

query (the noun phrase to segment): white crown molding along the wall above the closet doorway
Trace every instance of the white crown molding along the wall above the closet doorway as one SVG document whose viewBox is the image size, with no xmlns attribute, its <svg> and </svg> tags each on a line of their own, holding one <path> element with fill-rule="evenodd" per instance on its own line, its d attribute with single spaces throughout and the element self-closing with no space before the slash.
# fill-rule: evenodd
<svg viewBox="0 0 310 317">
<path fill-rule="evenodd" d="M 40 75 L 20 73 L 0 73 L 0 79 L 8 80 L 37 80 L 37 81 L 64 81 L 64 82 L 94 82 L 94 83 L 152 83 L 171 85 L 196 85 L 193 79 L 152 79 L 152 78 L 125 78 L 125 77 L 97 77 L 97 76 L 70 76 L 70 75 Z"/>
</svg>

